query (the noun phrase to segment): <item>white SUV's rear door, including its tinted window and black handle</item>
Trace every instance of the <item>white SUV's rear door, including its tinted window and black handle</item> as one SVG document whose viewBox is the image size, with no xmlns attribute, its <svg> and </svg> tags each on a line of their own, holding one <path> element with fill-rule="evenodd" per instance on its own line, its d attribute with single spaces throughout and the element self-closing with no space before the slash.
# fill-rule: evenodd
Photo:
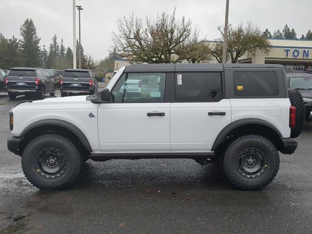
<svg viewBox="0 0 312 234">
<path fill-rule="evenodd" d="M 210 152 L 231 123 L 221 72 L 176 72 L 176 101 L 170 107 L 171 151 Z"/>
</svg>

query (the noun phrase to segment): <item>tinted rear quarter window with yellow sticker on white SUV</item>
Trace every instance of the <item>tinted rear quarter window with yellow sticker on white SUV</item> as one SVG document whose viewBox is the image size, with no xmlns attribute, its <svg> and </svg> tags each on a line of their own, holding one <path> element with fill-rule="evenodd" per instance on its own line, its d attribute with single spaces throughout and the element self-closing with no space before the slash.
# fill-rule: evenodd
<svg viewBox="0 0 312 234">
<path fill-rule="evenodd" d="M 273 71 L 235 71 L 235 96 L 277 96 L 277 74 Z"/>
</svg>

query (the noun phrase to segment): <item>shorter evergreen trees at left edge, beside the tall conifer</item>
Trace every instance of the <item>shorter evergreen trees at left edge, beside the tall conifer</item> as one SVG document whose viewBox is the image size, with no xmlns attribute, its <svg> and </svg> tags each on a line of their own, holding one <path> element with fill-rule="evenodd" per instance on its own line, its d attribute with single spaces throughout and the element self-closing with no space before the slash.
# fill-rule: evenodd
<svg viewBox="0 0 312 234">
<path fill-rule="evenodd" d="M 23 66 L 23 57 L 17 38 L 6 39 L 0 33 L 0 68 L 9 70 Z"/>
</svg>

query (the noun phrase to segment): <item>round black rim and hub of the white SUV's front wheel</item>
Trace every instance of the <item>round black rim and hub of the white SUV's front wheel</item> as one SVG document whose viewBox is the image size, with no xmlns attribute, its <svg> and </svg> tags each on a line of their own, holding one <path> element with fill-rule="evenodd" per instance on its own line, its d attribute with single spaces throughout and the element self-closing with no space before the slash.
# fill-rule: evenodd
<svg viewBox="0 0 312 234">
<path fill-rule="evenodd" d="M 58 148 L 44 148 L 37 154 L 35 166 L 41 176 L 54 179 L 65 172 L 67 167 L 66 156 Z"/>
</svg>

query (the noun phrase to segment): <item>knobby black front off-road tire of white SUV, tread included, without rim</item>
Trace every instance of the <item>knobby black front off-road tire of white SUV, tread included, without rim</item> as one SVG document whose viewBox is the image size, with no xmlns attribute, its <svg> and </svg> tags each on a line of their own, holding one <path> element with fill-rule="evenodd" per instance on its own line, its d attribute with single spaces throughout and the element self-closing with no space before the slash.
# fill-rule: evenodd
<svg viewBox="0 0 312 234">
<path fill-rule="evenodd" d="M 36 158 L 40 152 L 47 148 L 59 149 L 66 159 L 66 169 L 56 178 L 47 178 L 39 173 Z M 41 190 L 58 190 L 71 186 L 77 179 L 82 159 L 77 146 L 69 139 L 57 134 L 45 134 L 36 137 L 26 146 L 22 157 L 21 166 L 27 180 Z"/>
</svg>

